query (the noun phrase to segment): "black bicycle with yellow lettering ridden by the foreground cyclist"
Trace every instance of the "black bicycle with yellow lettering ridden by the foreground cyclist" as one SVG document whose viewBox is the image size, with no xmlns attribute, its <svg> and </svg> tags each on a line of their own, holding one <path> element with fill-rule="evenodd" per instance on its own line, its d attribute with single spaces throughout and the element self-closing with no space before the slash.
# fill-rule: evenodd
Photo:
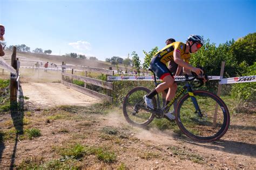
<svg viewBox="0 0 256 170">
<path fill-rule="evenodd" d="M 151 69 L 149 69 L 151 70 Z M 153 72 L 151 70 L 151 72 Z M 154 84 L 158 83 L 154 75 Z M 207 75 L 205 75 L 207 79 Z M 193 86 L 191 81 L 197 79 L 199 86 Z M 178 98 L 175 109 L 176 122 L 179 129 L 189 138 L 198 141 L 214 141 L 220 139 L 227 132 L 230 125 L 230 113 L 223 100 L 217 95 L 205 90 L 193 90 L 203 86 L 203 81 L 197 75 L 185 75 L 183 82 L 185 86 L 176 93 L 173 100 L 165 107 L 160 107 L 159 95 L 152 98 L 154 109 L 146 107 L 143 96 L 150 93 L 150 89 L 145 87 L 135 87 L 125 96 L 123 102 L 123 113 L 127 122 L 136 126 L 149 125 L 153 119 L 167 118 L 167 113 Z M 215 109 L 216 108 L 216 109 Z M 215 111 L 217 110 L 217 111 Z M 168 118 L 167 118 L 168 119 Z M 171 121 L 169 119 L 169 121 Z"/>
</svg>

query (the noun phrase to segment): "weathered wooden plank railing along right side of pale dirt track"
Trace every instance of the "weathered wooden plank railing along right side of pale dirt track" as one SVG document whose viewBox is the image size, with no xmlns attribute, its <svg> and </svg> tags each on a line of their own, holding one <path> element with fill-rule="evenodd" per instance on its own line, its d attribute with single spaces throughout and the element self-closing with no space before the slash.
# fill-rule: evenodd
<svg viewBox="0 0 256 170">
<path fill-rule="evenodd" d="M 71 68 L 71 74 L 70 73 L 65 73 L 66 68 Z M 75 75 L 74 73 L 75 70 L 80 70 L 85 73 L 85 76 L 81 75 Z M 104 69 L 104 68 L 93 68 L 93 67 L 84 67 L 84 66 L 68 66 L 64 65 L 64 62 L 62 63 L 62 83 L 65 86 L 68 86 L 74 90 L 79 91 L 80 93 L 99 98 L 101 100 L 108 101 L 110 103 L 113 103 L 113 97 L 112 97 L 112 91 L 113 91 L 113 83 L 112 82 L 107 82 L 103 80 L 98 80 L 98 79 L 93 79 L 91 77 L 88 77 L 88 73 L 100 73 L 105 76 L 107 75 L 114 75 L 114 71 L 111 69 Z M 69 77 L 71 79 L 70 82 L 66 81 L 65 76 Z M 84 82 L 84 87 L 78 86 L 76 84 L 73 84 L 73 80 L 80 80 Z M 86 84 L 93 84 L 98 87 L 102 87 L 103 89 L 106 89 L 107 94 L 102 94 L 97 91 L 93 91 L 91 89 L 86 88 Z"/>
</svg>

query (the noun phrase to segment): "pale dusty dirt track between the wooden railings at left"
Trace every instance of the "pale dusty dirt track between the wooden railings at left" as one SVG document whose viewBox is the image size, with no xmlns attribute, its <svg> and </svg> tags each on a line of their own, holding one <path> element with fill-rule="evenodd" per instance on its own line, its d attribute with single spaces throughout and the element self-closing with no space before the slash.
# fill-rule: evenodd
<svg viewBox="0 0 256 170">
<path fill-rule="evenodd" d="M 62 83 L 22 83 L 22 89 L 24 96 L 29 97 L 29 102 L 40 108 L 56 105 L 84 106 L 99 102 L 97 99 L 66 87 Z"/>
</svg>

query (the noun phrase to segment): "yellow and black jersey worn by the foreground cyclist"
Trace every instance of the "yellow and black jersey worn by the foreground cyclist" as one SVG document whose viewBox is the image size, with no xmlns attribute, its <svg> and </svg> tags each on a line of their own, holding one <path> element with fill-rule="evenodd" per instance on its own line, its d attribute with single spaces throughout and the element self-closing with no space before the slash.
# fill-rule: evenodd
<svg viewBox="0 0 256 170">
<path fill-rule="evenodd" d="M 173 42 L 172 44 L 169 44 L 165 46 L 163 49 L 158 51 L 154 57 L 157 57 L 160 59 L 161 62 L 163 62 L 165 65 L 169 61 L 173 61 L 173 52 L 177 51 L 180 53 L 180 58 L 183 59 L 185 62 L 189 63 L 190 61 L 190 53 L 185 53 L 186 50 L 186 44 L 183 42 Z"/>
</svg>

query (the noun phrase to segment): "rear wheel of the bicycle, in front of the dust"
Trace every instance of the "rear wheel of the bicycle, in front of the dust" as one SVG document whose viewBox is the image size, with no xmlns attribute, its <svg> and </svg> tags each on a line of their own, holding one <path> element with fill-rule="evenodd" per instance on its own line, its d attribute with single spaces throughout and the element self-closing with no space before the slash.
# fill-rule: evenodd
<svg viewBox="0 0 256 170">
<path fill-rule="evenodd" d="M 154 119 L 146 107 L 143 96 L 149 94 L 150 90 L 145 87 L 133 88 L 124 98 L 123 113 L 127 122 L 136 126 L 146 126 Z M 157 107 L 156 98 L 152 98 L 154 108 Z"/>
</svg>

